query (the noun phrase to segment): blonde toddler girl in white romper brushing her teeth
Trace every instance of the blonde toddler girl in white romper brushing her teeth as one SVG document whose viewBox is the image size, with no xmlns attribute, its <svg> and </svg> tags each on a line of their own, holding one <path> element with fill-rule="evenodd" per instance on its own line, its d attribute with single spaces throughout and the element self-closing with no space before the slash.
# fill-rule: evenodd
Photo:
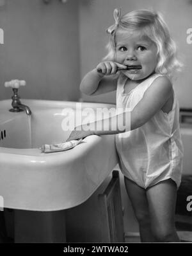
<svg viewBox="0 0 192 256">
<path fill-rule="evenodd" d="M 141 241 L 178 242 L 174 216 L 183 153 L 179 104 L 171 82 L 172 71 L 181 66 L 175 43 L 156 12 L 137 10 L 121 17 L 116 9 L 114 17 L 108 55 L 85 75 L 80 89 L 92 96 L 116 90 L 116 116 L 89 123 L 89 131 L 80 125 L 68 140 L 116 134 L 119 165 Z M 124 129 L 118 120 L 129 114 Z M 110 129 L 105 129 L 109 123 Z M 104 129 L 96 131 L 95 124 Z"/>
</svg>

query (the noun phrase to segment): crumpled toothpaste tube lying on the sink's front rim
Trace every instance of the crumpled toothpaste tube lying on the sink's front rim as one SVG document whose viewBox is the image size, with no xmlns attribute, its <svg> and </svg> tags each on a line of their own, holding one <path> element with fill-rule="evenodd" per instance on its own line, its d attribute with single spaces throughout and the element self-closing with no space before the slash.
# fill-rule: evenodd
<svg viewBox="0 0 192 256">
<path fill-rule="evenodd" d="M 63 142 L 60 144 L 52 144 L 52 145 L 42 145 L 40 150 L 44 153 L 51 153 L 51 152 L 60 152 L 60 151 L 67 151 L 68 149 L 72 149 L 76 147 L 79 143 L 82 143 L 83 139 L 81 140 L 70 140 L 70 142 Z"/>
</svg>

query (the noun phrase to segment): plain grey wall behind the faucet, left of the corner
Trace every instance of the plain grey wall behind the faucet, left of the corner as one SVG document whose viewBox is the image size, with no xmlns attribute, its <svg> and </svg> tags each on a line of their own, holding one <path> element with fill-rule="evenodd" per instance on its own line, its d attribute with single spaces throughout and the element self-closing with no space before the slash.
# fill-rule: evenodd
<svg viewBox="0 0 192 256">
<path fill-rule="evenodd" d="M 0 100 L 12 91 L 4 82 L 26 80 L 21 98 L 78 100 L 79 28 L 77 0 L 5 0 L 0 7 Z"/>
</svg>

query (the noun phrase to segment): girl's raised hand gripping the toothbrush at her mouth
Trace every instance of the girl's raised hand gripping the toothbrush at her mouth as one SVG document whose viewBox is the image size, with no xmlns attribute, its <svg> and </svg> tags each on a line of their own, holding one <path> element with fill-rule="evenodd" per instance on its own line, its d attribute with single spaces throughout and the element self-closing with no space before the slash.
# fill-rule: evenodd
<svg viewBox="0 0 192 256">
<path fill-rule="evenodd" d="M 102 71 L 102 75 L 115 75 L 118 71 L 118 68 L 127 69 L 127 66 L 122 65 L 118 62 L 113 61 L 104 61 L 100 62 L 97 65 L 97 70 L 100 69 Z"/>
</svg>

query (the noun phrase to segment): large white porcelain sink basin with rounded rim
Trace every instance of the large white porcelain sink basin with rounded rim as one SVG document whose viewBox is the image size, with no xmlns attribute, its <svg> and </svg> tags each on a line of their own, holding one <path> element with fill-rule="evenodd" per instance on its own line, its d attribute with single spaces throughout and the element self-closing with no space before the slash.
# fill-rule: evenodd
<svg viewBox="0 0 192 256">
<path fill-rule="evenodd" d="M 84 143 L 64 152 L 45 154 L 39 147 L 68 138 L 70 131 L 62 129 L 63 110 L 74 109 L 79 117 L 79 105 L 93 111 L 115 105 L 23 99 L 22 104 L 30 107 L 31 117 L 25 112 L 11 113 L 11 100 L 0 101 L 0 195 L 4 207 L 54 211 L 83 203 L 118 161 L 115 135 L 88 136 Z M 94 114 L 90 118 L 95 120 Z"/>
</svg>

